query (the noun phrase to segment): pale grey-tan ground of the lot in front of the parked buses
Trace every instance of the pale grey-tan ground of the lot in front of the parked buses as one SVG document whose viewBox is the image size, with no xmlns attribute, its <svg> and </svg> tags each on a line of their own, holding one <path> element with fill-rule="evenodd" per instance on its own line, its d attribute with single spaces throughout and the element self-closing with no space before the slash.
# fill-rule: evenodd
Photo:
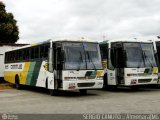
<svg viewBox="0 0 160 120">
<path fill-rule="evenodd" d="M 2 87 L 3 86 L 3 87 Z M 41 88 L 26 87 L 21 90 L 1 84 L 0 113 L 24 114 L 87 114 L 87 113 L 159 113 L 160 89 L 119 88 L 114 91 L 88 90 L 84 96 L 79 91 L 59 91 L 50 96 Z"/>
</svg>

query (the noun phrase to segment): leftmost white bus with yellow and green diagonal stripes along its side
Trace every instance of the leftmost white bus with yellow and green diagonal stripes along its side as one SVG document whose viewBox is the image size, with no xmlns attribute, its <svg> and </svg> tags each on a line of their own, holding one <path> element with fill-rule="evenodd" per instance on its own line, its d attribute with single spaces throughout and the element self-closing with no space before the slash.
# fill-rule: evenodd
<svg viewBox="0 0 160 120">
<path fill-rule="evenodd" d="M 99 44 L 85 38 L 59 38 L 7 51 L 4 79 L 15 84 L 57 90 L 103 87 Z"/>
</svg>

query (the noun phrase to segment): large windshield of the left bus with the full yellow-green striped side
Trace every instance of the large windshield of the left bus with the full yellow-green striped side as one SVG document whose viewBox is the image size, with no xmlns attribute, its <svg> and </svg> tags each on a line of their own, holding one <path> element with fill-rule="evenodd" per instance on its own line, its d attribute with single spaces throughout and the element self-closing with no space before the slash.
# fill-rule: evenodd
<svg viewBox="0 0 160 120">
<path fill-rule="evenodd" d="M 102 69 L 100 50 L 95 43 L 65 43 L 64 69 Z"/>
</svg>

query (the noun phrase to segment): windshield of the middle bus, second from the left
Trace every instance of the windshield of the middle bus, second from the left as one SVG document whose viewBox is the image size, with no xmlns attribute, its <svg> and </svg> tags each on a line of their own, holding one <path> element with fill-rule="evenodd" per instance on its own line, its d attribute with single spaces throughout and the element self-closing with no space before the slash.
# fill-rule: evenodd
<svg viewBox="0 0 160 120">
<path fill-rule="evenodd" d="M 155 67 L 153 45 L 145 43 L 124 43 L 126 67 Z"/>
</svg>

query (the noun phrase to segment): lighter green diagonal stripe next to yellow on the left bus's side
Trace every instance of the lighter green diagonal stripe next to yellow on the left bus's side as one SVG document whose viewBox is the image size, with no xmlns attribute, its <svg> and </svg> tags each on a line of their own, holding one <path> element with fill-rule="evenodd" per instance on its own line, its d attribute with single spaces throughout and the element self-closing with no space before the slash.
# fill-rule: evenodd
<svg viewBox="0 0 160 120">
<path fill-rule="evenodd" d="M 35 64 L 36 62 L 31 62 L 30 64 L 30 67 L 29 67 L 29 70 L 28 70 L 28 75 L 27 75 L 27 80 L 26 80 L 26 85 L 30 85 L 31 84 L 31 79 L 32 79 L 32 76 L 33 76 L 33 70 L 35 68 Z"/>
</svg>

